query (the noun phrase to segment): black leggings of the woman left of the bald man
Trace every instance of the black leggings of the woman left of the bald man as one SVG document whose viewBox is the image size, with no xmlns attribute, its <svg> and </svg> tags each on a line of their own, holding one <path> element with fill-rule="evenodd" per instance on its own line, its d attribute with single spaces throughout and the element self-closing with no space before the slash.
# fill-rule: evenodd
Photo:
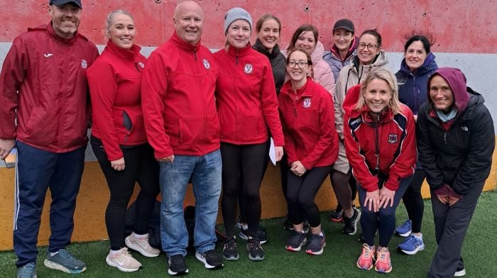
<svg viewBox="0 0 497 278">
<path fill-rule="evenodd" d="M 136 198 L 136 223 L 133 232 L 138 235 L 148 233 L 148 221 L 155 198 L 160 191 L 159 165 L 153 156 L 151 146 L 144 144 L 133 148 L 121 148 L 124 153 L 125 168 L 116 171 L 111 167 L 111 162 L 102 147 L 102 141 L 92 137 L 90 142 L 110 191 L 110 200 L 105 211 L 105 225 L 111 250 L 119 250 L 124 247 L 126 209 L 136 182 L 141 190 Z"/>
</svg>

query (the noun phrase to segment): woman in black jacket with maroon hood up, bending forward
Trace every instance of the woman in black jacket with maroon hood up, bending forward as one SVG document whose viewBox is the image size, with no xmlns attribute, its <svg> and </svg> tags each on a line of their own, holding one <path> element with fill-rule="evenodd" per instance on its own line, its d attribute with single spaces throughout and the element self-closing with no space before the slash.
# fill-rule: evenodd
<svg viewBox="0 0 497 278">
<path fill-rule="evenodd" d="M 495 148 L 493 121 L 481 94 L 454 68 L 428 79 L 417 115 L 417 148 L 432 194 L 437 252 L 428 277 L 466 274 L 461 249 Z"/>
</svg>

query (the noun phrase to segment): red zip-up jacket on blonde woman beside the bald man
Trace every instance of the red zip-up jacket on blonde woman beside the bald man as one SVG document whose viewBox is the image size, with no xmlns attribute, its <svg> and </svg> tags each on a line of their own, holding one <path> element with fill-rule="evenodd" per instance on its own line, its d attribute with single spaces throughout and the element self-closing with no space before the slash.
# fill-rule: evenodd
<svg viewBox="0 0 497 278">
<path fill-rule="evenodd" d="M 140 47 L 107 48 L 87 70 L 92 96 L 92 135 L 102 140 L 109 161 L 124 157 L 119 145 L 147 143 L 141 111 L 141 75 L 146 57 Z M 125 123 L 126 120 L 126 123 Z"/>
</svg>

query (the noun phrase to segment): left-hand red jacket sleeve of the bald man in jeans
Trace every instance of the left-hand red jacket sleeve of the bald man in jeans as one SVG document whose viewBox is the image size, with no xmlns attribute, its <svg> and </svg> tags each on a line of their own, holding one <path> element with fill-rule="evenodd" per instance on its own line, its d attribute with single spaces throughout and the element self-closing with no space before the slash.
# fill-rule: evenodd
<svg viewBox="0 0 497 278">
<path fill-rule="evenodd" d="M 147 60 L 141 83 L 141 106 L 148 143 L 155 150 L 155 158 L 173 155 L 169 136 L 164 128 L 164 103 L 168 89 L 169 72 L 158 53 L 153 52 Z"/>
</svg>

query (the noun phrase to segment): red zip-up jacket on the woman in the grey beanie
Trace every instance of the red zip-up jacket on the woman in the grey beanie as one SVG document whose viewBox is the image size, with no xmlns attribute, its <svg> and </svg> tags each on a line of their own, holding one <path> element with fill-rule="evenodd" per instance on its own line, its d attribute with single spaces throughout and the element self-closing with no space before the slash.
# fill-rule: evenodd
<svg viewBox="0 0 497 278">
<path fill-rule="evenodd" d="M 221 141 L 236 145 L 268 140 L 268 126 L 276 146 L 285 145 L 278 115 L 278 98 L 268 57 L 251 45 L 214 53 L 219 65 L 216 101 Z"/>
</svg>

